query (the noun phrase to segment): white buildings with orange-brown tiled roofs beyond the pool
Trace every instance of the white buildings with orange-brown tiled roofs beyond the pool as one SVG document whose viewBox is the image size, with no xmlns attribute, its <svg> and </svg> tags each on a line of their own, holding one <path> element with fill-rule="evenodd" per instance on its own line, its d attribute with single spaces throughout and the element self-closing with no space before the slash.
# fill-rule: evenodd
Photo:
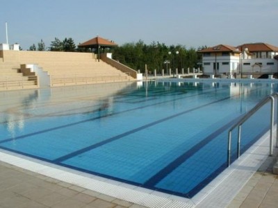
<svg viewBox="0 0 278 208">
<path fill-rule="evenodd" d="M 199 51 L 204 74 L 263 74 L 278 72 L 278 47 L 264 43 L 238 47 L 220 44 Z"/>
</svg>

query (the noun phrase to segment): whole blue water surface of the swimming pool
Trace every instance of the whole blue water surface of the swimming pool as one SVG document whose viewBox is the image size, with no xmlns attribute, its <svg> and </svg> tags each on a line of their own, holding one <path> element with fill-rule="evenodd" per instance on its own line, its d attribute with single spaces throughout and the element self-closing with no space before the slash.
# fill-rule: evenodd
<svg viewBox="0 0 278 208">
<path fill-rule="evenodd" d="M 231 125 L 273 92 L 277 84 L 156 82 L 0 92 L 0 148 L 192 198 L 226 168 Z M 242 151 L 269 128 L 269 107 L 243 125 Z"/>
</svg>

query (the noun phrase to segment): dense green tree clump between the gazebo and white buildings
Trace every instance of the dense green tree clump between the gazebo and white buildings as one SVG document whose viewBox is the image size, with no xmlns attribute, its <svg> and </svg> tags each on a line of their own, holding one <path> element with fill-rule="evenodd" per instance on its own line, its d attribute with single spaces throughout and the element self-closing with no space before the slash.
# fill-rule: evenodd
<svg viewBox="0 0 278 208">
<path fill-rule="evenodd" d="M 142 40 L 136 43 L 126 43 L 113 49 L 113 59 L 126 64 L 132 69 L 145 71 L 147 64 L 148 71 L 162 73 L 176 69 L 180 72 L 181 69 L 198 68 L 202 62 L 202 55 L 197 53 L 199 49 L 204 49 L 206 46 L 201 46 L 198 49 L 178 44 L 177 46 L 166 46 L 159 42 L 152 42 L 147 45 Z"/>
</svg>

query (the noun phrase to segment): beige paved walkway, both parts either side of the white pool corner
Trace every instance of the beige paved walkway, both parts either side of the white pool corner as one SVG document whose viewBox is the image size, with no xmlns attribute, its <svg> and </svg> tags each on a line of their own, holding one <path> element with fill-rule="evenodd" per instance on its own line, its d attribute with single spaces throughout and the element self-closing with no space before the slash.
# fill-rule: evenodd
<svg viewBox="0 0 278 208">
<path fill-rule="evenodd" d="M 278 175 L 270 157 L 234 198 L 229 208 L 278 207 Z M 60 182 L 0 162 L 0 208 L 142 208 L 130 202 Z"/>
</svg>

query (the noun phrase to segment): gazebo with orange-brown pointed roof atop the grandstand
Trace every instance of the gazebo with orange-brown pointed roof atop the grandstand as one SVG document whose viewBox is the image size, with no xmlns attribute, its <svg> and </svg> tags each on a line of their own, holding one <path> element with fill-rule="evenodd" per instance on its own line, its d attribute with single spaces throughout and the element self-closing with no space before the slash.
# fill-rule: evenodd
<svg viewBox="0 0 278 208">
<path fill-rule="evenodd" d="M 106 40 L 102 37 L 94 37 L 91 40 L 88 40 L 86 42 L 83 42 L 82 44 L 79 44 L 80 48 L 87 48 L 87 49 L 97 49 L 97 55 L 99 60 L 99 53 L 100 49 L 107 49 L 117 46 L 114 42 L 110 40 Z"/>
</svg>

